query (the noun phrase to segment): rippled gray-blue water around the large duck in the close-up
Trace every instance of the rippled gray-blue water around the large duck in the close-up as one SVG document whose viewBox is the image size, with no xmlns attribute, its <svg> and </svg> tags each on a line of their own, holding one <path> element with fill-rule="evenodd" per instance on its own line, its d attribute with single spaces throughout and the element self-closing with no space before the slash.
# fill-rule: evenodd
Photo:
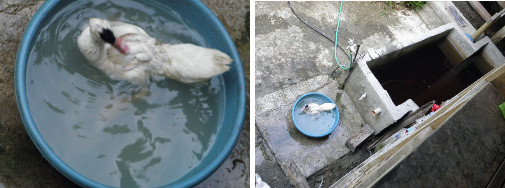
<svg viewBox="0 0 505 188">
<path fill-rule="evenodd" d="M 169 7 L 149 1 L 71 1 L 37 35 L 27 64 L 30 112 L 63 162 L 114 187 L 166 185 L 197 168 L 223 122 L 221 76 L 186 85 L 139 86 L 109 79 L 80 53 L 90 17 L 134 23 L 164 43 L 206 46 Z"/>
</svg>

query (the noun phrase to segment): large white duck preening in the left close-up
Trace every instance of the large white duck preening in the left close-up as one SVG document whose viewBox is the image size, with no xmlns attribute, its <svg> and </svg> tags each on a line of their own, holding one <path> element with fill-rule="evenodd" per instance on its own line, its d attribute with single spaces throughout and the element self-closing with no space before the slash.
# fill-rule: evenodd
<svg viewBox="0 0 505 188">
<path fill-rule="evenodd" d="M 91 18 L 77 38 L 79 50 L 111 79 L 146 83 L 151 75 L 183 83 L 208 80 L 229 70 L 232 59 L 193 44 L 162 44 L 135 25 Z"/>
</svg>

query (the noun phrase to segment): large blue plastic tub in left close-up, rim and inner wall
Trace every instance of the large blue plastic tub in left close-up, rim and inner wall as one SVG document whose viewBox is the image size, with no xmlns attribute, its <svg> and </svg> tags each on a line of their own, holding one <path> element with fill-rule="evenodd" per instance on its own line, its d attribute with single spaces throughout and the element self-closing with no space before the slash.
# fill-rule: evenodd
<svg viewBox="0 0 505 188">
<path fill-rule="evenodd" d="M 75 183 L 84 187 L 106 187 L 79 174 L 63 162 L 44 141 L 32 118 L 26 95 L 26 72 L 28 54 L 32 48 L 34 38 L 40 32 L 41 27 L 61 7 L 72 1 L 48 0 L 35 13 L 23 39 L 19 45 L 16 57 L 15 89 L 18 108 L 25 125 L 35 146 L 42 155 L 63 175 Z M 217 17 L 199 0 L 187 1 L 159 1 L 171 7 L 178 14 L 191 23 L 194 29 L 201 33 L 210 47 L 219 49 L 233 58 L 230 71 L 223 75 L 225 86 L 225 109 L 223 127 L 216 135 L 214 148 L 209 149 L 207 156 L 212 160 L 204 160 L 201 164 L 179 180 L 166 186 L 188 187 L 195 185 L 214 172 L 226 159 L 233 149 L 244 120 L 245 114 L 245 81 L 241 61 L 236 47 Z"/>
</svg>

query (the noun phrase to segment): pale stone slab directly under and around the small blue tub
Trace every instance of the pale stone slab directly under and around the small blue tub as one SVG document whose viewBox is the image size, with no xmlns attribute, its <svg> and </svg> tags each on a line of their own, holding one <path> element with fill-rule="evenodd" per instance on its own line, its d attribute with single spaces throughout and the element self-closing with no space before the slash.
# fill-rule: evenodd
<svg viewBox="0 0 505 188">
<path fill-rule="evenodd" d="M 256 126 L 279 163 L 292 160 L 303 176 L 308 177 L 349 152 L 345 141 L 363 129 L 363 120 L 347 94 L 337 88 L 338 83 L 330 80 L 318 90 L 298 93 L 292 101 L 257 114 Z M 291 90 L 287 88 L 283 91 Z M 309 138 L 299 132 L 293 124 L 292 105 L 297 97 L 308 92 L 323 93 L 337 104 L 340 112 L 339 124 L 328 137 Z"/>
</svg>

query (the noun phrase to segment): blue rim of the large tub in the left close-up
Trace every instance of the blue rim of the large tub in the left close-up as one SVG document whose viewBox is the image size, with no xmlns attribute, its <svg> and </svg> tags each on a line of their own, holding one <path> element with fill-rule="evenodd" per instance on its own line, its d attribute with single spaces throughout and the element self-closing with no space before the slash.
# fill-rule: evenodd
<svg viewBox="0 0 505 188">
<path fill-rule="evenodd" d="M 49 11 L 59 2 L 59 0 L 47 0 L 42 4 L 42 6 L 37 10 L 37 12 L 33 15 L 28 27 L 23 34 L 23 38 L 19 44 L 18 51 L 16 54 L 16 65 L 14 70 L 14 86 L 15 86 L 15 96 L 18 105 L 18 109 L 21 115 L 21 119 L 25 126 L 25 129 L 28 132 L 31 140 L 39 150 L 39 152 L 48 160 L 48 162 L 61 174 L 66 176 L 68 179 L 73 181 L 76 184 L 79 184 L 84 187 L 108 187 L 96 181 L 93 181 L 89 178 L 84 177 L 79 174 L 77 171 L 72 169 L 70 166 L 65 164 L 49 147 L 49 145 L 44 141 L 42 135 L 39 133 L 35 122 L 31 116 L 31 112 L 28 105 L 28 100 L 26 97 L 26 65 L 28 61 L 28 55 L 30 50 L 30 43 L 34 40 L 34 35 L 37 31 L 37 28 L 40 26 L 42 19 L 49 13 Z M 211 25 L 214 25 L 216 30 L 223 35 L 224 42 L 226 46 L 230 47 L 231 54 L 228 54 L 234 60 L 232 64 L 232 68 L 235 68 L 238 75 L 236 77 L 238 83 L 238 103 L 237 109 L 238 111 L 235 114 L 235 121 L 233 122 L 233 130 L 231 130 L 231 141 L 227 142 L 223 146 L 223 150 L 218 153 L 215 160 L 212 160 L 205 168 L 203 168 L 200 172 L 196 173 L 194 176 L 189 177 L 181 182 L 177 182 L 176 184 L 169 184 L 166 186 L 169 187 L 191 187 L 201 182 L 208 176 L 210 176 L 228 157 L 228 155 L 233 150 L 238 137 L 240 135 L 240 131 L 242 130 L 242 125 L 244 123 L 245 118 L 245 101 L 246 101 L 246 88 L 245 88 L 245 78 L 244 72 L 242 69 L 242 62 L 240 61 L 240 57 L 237 52 L 237 48 L 231 39 L 228 31 L 223 26 L 221 21 L 212 13 L 212 11 L 201 1 L 199 0 L 188 0 L 187 3 L 192 3 L 196 6 L 196 9 L 201 10 L 202 14 L 205 14 L 210 19 Z M 226 120 L 225 120 L 226 121 Z"/>
</svg>

